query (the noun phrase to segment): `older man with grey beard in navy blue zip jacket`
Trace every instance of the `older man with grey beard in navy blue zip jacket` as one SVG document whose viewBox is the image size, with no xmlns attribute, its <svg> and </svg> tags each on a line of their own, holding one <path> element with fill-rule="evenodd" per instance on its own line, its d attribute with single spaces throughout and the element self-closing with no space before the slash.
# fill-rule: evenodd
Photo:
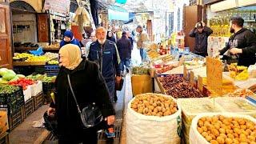
<svg viewBox="0 0 256 144">
<path fill-rule="evenodd" d="M 120 82 L 120 57 L 114 42 L 106 39 L 106 29 L 102 26 L 96 30 L 97 41 L 90 45 L 88 59 L 98 63 L 99 70 L 110 91 L 110 101 L 114 102 L 115 80 Z"/>
</svg>

